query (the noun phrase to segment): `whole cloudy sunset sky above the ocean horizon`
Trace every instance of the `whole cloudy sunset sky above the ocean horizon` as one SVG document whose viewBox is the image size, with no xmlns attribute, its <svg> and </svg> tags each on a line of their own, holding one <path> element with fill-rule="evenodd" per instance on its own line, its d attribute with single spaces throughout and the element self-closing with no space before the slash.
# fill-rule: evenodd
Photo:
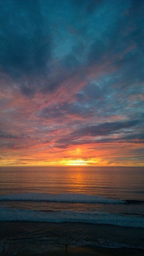
<svg viewBox="0 0 144 256">
<path fill-rule="evenodd" d="M 0 165 L 144 165 L 144 1 L 0 0 Z"/>
</svg>

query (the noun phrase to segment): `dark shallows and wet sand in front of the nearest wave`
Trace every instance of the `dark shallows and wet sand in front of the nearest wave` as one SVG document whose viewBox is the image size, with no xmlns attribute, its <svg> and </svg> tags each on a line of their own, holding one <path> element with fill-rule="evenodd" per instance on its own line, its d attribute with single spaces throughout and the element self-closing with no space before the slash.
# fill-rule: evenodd
<svg viewBox="0 0 144 256">
<path fill-rule="evenodd" d="M 90 223 L 1 222 L 1 253 L 33 255 L 141 255 L 144 229 Z M 135 253 L 137 252 L 137 253 Z M 142 252 L 142 253 L 141 253 Z M 6 254 L 4 254 L 6 255 Z"/>
</svg>

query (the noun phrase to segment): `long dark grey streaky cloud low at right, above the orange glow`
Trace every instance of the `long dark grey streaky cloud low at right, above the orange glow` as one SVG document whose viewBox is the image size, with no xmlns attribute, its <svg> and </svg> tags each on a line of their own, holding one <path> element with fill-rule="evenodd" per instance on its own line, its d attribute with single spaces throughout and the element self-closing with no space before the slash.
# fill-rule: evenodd
<svg viewBox="0 0 144 256">
<path fill-rule="evenodd" d="M 83 145 L 90 143 L 112 143 L 112 142 L 133 142 L 135 139 L 143 141 L 143 134 L 132 134 L 126 135 L 127 129 L 137 126 L 140 124 L 139 120 L 133 121 L 121 121 L 121 122 L 105 122 L 103 124 L 98 124 L 95 126 L 86 126 L 81 129 L 76 129 L 74 132 L 58 139 L 56 143 L 62 144 L 58 147 L 66 147 L 68 145 Z M 131 133 L 132 131 L 128 131 Z M 120 134 L 116 138 L 107 138 L 108 135 Z M 92 138 L 89 138 L 93 137 Z M 106 138 L 99 138 L 99 137 Z"/>
</svg>

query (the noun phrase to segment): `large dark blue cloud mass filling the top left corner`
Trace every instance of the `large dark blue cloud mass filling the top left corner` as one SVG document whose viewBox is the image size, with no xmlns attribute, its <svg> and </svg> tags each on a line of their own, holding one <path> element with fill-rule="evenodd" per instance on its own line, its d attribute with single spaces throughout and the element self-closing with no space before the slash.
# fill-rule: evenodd
<svg viewBox="0 0 144 256">
<path fill-rule="evenodd" d="M 0 66 L 11 76 L 44 72 L 50 58 L 50 35 L 38 0 L 0 3 Z"/>
</svg>

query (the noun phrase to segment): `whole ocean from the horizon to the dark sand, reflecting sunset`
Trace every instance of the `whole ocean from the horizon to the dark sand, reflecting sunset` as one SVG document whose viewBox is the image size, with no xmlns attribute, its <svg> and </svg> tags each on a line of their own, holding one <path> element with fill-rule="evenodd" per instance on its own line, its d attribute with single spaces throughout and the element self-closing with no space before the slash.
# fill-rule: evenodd
<svg viewBox="0 0 144 256">
<path fill-rule="evenodd" d="M 144 249 L 144 168 L 1 168 L 0 226 L 0 255 L 65 243 Z"/>
</svg>

